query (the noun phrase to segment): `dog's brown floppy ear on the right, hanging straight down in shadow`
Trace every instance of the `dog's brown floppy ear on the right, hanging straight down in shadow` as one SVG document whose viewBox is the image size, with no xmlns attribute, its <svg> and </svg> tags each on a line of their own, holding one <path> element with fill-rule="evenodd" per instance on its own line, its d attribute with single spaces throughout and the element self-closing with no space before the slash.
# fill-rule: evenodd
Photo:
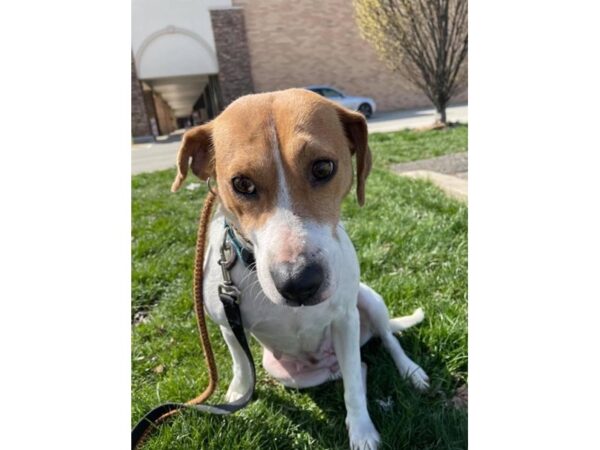
<svg viewBox="0 0 600 450">
<path fill-rule="evenodd" d="M 336 105 L 337 106 L 337 105 Z M 356 197 L 358 204 L 365 204 L 365 184 L 371 172 L 371 150 L 367 121 L 360 113 L 337 106 L 338 116 L 344 125 L 346 137 L 350 142 L 350 152 L 356 155 Z"/>
</svg>

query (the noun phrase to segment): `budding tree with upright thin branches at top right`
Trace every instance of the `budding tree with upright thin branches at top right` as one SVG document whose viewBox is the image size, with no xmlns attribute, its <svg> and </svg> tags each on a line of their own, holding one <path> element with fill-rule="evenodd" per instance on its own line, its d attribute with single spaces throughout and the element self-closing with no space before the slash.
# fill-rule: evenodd
<svg viewBox="0 0 600 450">
<path fill-rule="evenodd" d="M 364 39 L 421 90 L 446 124 L 446 106 L 466 84 L 467 0 L 353 0 Z"/>
</svg>

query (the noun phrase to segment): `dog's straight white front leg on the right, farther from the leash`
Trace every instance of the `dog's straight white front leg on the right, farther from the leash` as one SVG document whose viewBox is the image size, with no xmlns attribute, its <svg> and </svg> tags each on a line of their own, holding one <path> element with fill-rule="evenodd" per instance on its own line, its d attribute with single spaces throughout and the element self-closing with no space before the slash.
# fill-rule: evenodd
<svg viewBox="0 0 600 450">
<path fill-rule="evenodd" d="M 367 411 L 366 387 L 360 361 L 360 322 L 358 308 L 351 308 L 332 323 L 335 354 L 344 380 L 346 426 L 352 450 L 374 450 L 379 433 Z"/>
</svg>

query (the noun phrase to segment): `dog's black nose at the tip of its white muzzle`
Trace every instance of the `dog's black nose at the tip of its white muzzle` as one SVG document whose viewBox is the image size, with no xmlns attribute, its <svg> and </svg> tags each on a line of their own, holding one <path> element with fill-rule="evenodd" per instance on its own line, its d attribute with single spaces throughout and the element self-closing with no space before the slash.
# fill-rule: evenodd
<svg viewBox="0 0 600 450">
<path fill-rule="evenodd" d="M 286 300 L 296 305 L 311 305 L 318 303 L 314 299 L 325 274 L 320 264 L 315 262 L 302 264 L 277 264 L 271 269 L 275 287 Z"/>
</svg>

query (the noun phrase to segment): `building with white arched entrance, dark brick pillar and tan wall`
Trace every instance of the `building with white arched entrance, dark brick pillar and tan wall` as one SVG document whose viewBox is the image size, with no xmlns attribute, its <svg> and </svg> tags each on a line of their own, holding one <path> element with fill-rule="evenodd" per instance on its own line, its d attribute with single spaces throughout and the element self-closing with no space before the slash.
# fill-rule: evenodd
<svg viewBox="0 0 600 450">
<path fill-rule="evenodd" d="M 360 37 L 351 0 L 132 4 L 137 140 L 209 120 L 248 93 L 311 84 L 372 97 L 381 111 L 430 105 Z"/>
</svg>

